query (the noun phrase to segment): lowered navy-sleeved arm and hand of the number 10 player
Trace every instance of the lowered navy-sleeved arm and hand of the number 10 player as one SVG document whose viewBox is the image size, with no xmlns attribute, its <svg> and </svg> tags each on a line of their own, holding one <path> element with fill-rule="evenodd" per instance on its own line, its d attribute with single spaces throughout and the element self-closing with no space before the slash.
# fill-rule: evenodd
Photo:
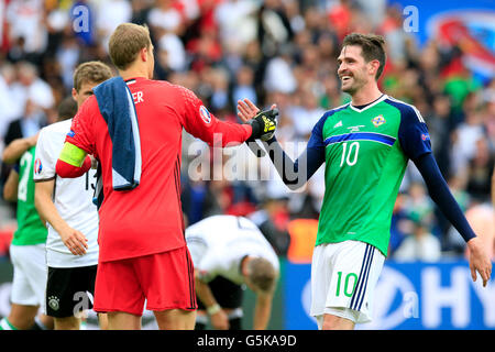
<svg viewBox="0 0 495 352">
<path fill-rule="evenodd" d="M 425 179 L 431 199 L 468 243 L 473 282 L 476 280 L 477 271 L 483 278 L 483 286 L 486 286 L 486 283 L 492 275 L 492 262 L 480 242 L 480 239 L 476 238 L 476 234 L 471 229 L 464 213 L 455 201 L 455 198 L 452 196 L 449 186 L 438 168 L 433 155 L 427 153 L 414 162 Z"/>
</svg>

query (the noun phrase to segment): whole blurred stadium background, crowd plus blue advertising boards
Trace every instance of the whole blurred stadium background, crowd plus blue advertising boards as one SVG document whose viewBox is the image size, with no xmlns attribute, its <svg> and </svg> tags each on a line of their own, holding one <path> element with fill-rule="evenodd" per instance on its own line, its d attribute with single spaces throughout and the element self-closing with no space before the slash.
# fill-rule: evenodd
<svg viewBox="0 0 495 352">
<path fill-rule="evenodd" d="M 421 111 L 439 166 L 494 257 L 492 0 L 2 0 L 1 146 L 53 122 L 57 103 L 70 92 L 74 67 L 88 59 L 109 62 L 108 36 L 129 21 L 151 29 L 155 78 L 193 89 L 217 117 L 235 121 L 235 101 L 243 97 L 258 106 L 276 102 L 282 112 L 277 138 L 292 156 L 301 150 L 292 150 L 288 141 L 304 145 L 322 111 L 349 101 L 336 76 L 343 36 L 383 34 L 388 63 L 380 85 Z M 16 120 L 29 128 L 15 130 Z M 237 153 L 224 152 L 215 160 L 201 142 L 185 133 L 186 220 L 194 223 L 213 213 L 252 218 L 279 254 L 283 268 L 270 329 L 315 329 L 307 315 L 308 283 L 322 170 L 301 191 L 288 193 L 270 163 L 242 147 Z M 198 157 L 212 166 L 207 167 L 210 173 L 217 166 L 226 170 L 235 157 L 257 169 L 260 177 L 233 179 L 223 174 L 201 179 L 193 167 Z M 2 165 L 2 182 L 8 172 L 9 166 Z M 0 317 L 9 310 L 8 248 L 15 227 L 15 207 L 2 201 Z M 394 210 L 375 320 L 360 328 L 494 329 L 495 285 L 492 279 L 482 289 L 480 280 L 471 282 L 464 251 L 461 237 L 431 204 L 410 165 Z M 246 292 L 245 328 L 251 327 L 253 302 Z M 144 322 L 154 328 L 148 312 Z"/>
</svg>

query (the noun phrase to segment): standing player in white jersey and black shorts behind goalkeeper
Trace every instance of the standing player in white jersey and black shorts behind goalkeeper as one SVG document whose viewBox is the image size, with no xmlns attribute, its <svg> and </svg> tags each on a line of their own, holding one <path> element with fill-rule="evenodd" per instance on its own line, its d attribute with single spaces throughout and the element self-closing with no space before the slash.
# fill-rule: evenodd
<svg viewBox="0 0 495 352">
<path fill-rule="evenodd" d="M 78 108 L 92 95 L 95 86 L 111 76 L 110 68 L 102 63 L 79 65 L 73 88 Z M 92 308 L 98 264 L 99 218 L 92 202 L 96 169 L 91 167 L 76 178 L 61 178 L 55 173 L 70 124 L 72 119 L 41 130 L 34 162 L 35 206 L 48 228 L 45 310 L 54 317 L 56 330 L 80 328 L 80 312 Z M 85 163 L 91 163 L 89 156 Z M 102 321 L 100 326 L 105 328 Z"/>
</svg>

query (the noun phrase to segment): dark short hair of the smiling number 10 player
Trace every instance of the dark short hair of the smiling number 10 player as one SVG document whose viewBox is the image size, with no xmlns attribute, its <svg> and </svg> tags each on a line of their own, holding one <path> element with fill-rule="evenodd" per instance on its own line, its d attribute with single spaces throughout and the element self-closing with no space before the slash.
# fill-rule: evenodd
<svg viewBox="0 0 495 352">
<path fill-rule="evenodd" d="M 387 59 L 385 54 L 385 40 L 382 35 L 351 33 L 348 34 L 342 42 L 342 47 L 345 45 L 361 46 L 362 55 L 366 63 L 377 59 L 380 62 L 380 67 L 376 72 L 375 79 L 378 79 L 380 76 L 382 76 Z"/>
</svg>

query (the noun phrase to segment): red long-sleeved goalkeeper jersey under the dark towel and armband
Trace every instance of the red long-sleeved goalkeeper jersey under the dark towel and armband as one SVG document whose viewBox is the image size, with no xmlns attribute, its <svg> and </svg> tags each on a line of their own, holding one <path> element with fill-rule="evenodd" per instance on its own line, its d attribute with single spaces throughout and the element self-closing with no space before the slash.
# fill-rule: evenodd
<svg viewBox="0 0 495 352">
<path fill-rule="evenodd" d="M 101 164 L 105 200 L 99 209 L 101 262 L 143 256 L 186 245 L 180 207 L 183 128 L 208 144 L 242 143 L 251 125 L 229 123 L 212 116 L 190 90 L 162 80 L 128 80 L 134 99 L 140 139 L 140 185 L 112 189 L 112 141 L 95 97 L 80 107 L 66 142 Z M 215 145 L 217 145 L 217 141 Z"/>
</svg>

